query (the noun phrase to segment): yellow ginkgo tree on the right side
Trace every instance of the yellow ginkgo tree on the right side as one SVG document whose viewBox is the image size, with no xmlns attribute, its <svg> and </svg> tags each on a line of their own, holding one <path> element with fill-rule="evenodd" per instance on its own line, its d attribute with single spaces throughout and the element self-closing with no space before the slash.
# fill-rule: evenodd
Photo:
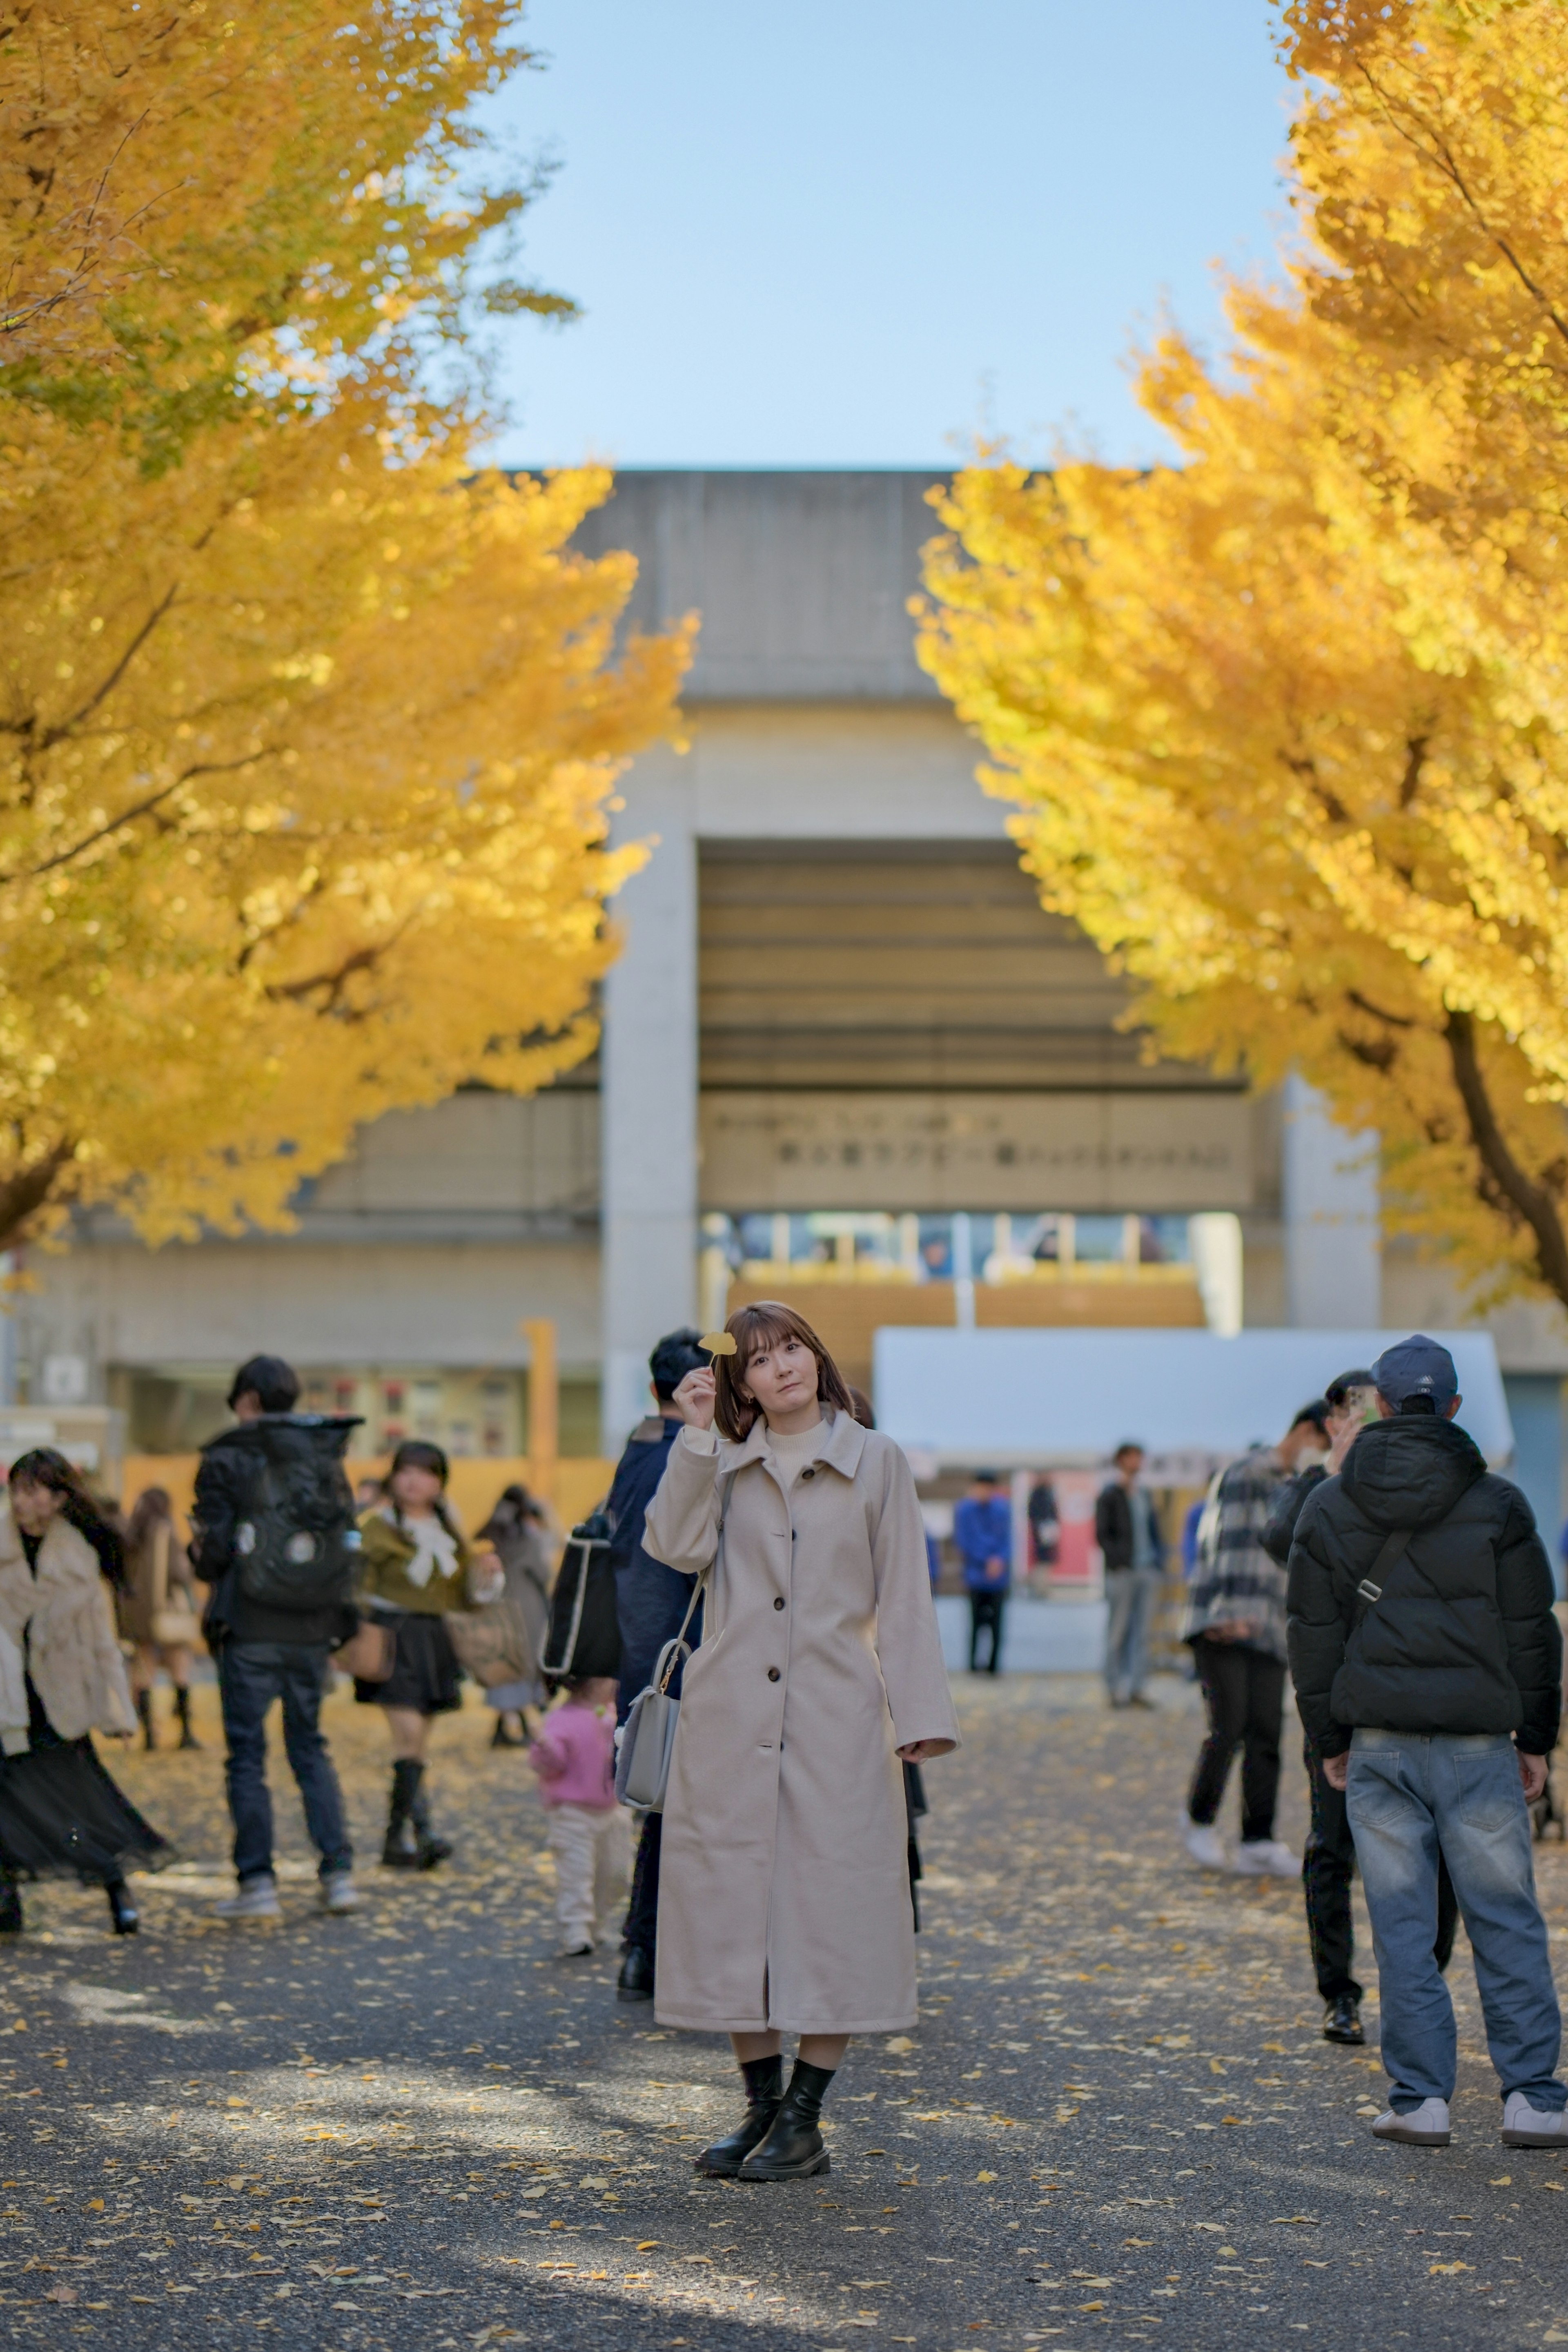
<svg viewBox="0 0 1568 2352">
<path fill-rule="evenodd" d="M 1180 466 L 957 477 L 922 659 L 1154 1042 L 1300 1068 L 1483 1296 L 1568 1303 L 1568 16 L 1281 38 L 1291 282 L 1147 355 Z"/>
</svg>

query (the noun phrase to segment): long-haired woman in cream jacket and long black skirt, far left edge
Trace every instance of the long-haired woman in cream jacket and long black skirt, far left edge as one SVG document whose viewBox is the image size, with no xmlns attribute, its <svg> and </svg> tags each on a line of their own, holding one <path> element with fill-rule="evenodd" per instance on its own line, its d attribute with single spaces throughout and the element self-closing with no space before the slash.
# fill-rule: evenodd
<svg viewBox="0 0 1568 2352">
<path fill-rule="evenodd" d="M 169 1858 L 92 1745 L 136 1729 L 108 1599 L 122 1578 L 120 1536 L 66 1456 L 19 1456 L 0 1508 L 0 1933 L 21 1931 L 21 1875 L 63 1872 L 103 1886 L 115 1936 L 134 1936 L 125 1875 Z"/>
</svg>

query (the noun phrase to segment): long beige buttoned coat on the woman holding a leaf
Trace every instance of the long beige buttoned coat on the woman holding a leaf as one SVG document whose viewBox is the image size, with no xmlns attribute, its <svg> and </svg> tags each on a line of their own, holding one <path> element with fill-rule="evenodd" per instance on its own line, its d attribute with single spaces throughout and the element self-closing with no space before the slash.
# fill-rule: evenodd
<svg viewBox="0 0 1568 2352">
<path fill-rule="evenodd" d="M 959 1733 L 907 1461 L 839 1414 L 785 1494 L 764 1421 L 682 1430 L 642 1541 L 686 1576 L 719 1552 L 665 1797 L 658 2023 L 914 2025 L 896 1748 Z"/>
</svg>

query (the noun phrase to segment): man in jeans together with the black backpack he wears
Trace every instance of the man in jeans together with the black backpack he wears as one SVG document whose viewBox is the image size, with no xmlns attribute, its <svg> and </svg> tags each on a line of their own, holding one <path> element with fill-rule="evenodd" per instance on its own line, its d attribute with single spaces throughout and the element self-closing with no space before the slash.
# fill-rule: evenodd
<svg viewBox="0 0 1568 2352">
<path fill-rule="evenodd" d="M 228 1811 L 240 1891 L 223 1919 L 277 1919 L 266 1715 L 282 1698 L 282 1745 L 320 1853 L 322 1910 L 360 1896 L 343 1792 L 322 1738 L 327 1658 L 355 1623 L 360 1534 L 343 1472 L 357 1421 L 296 1414 L 299 1378 L 254 1355 L 233 1378 L 235 1428 L 202 1446 L 195 1475 L 195 1571 L 212 1588 L 205 1635 L 219 1668 Z"/>
</svg>

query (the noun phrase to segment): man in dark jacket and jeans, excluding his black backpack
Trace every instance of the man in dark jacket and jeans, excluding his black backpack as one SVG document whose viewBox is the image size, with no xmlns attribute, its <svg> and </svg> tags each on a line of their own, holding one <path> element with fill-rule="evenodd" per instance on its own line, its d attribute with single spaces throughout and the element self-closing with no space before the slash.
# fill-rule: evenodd
<svg viewBox="0 0 1568 2352">
<path fill-rule="evenodd" d="M 254 1543 L 252 1494 L 263 1461 L 282 1463 L 320 1444 L 320 1414 L 296 1414 L 299 1378 L 282 1357 L 254 1355 L 233 1378 L 228 1409 L 233 1430 L 202 1446 L 195 1472 L 190 1559 L 212 1588 L 207 1646 L 219 1668 L 223 1700 L 223 1778 L 235 1825 L 235 1879 L 240 1891 L 219 1903 L 223 1919 L 277 1919 L 273 1877 L 273 1802 L 266 1785 L 266 1715 L 282 1698 L 282 1745 L 299 1783 L 306 1828 L 320 1853 L 320 1893 L 329 1912 L 353 1910 L 353 1846 L 343 1816 L 343 1792 L 322 1738 L 322 1689 L 327 1658 L 355 1628 L 343 1602 L 317 1609 L 266 1609 L 240 1590 L 240 1559 Z M 348 1486 L 343 1489 L 348 1498 Z M 350 1501 L 350 1498 L 348 1498 Z"/>
</svg>

